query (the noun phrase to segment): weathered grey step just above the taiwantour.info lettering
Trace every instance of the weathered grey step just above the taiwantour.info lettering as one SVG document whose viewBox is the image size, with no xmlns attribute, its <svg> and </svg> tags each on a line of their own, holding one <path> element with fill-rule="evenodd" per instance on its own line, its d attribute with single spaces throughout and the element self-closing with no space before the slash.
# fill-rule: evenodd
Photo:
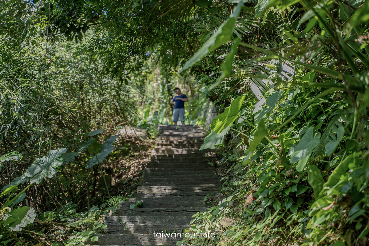
<svg viewBox="0 0 369 246">
<path fill-rule="evenodd" d="M 121 225 L 126 222 L 129 225 L 188 225 L 190 224 L 192 215 L 181 216 L 109 216 L 105 218 L 105 221 L 109 225 Z"/>
</svg>

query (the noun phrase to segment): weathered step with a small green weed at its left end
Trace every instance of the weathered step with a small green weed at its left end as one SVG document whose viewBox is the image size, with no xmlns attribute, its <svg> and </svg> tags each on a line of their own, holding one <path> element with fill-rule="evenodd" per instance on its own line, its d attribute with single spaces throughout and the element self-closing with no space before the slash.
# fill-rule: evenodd
<svg viewBox="0 0 369 246">
<path fill-rule="evenodd" d="M 128 198 L 128 202 L 121 202 L 119 208 L 129 208 L 131 204 L 141 201 L 140 208 L 177 208 L 177 207 L 202 207 L 204 206 L 204 197 L 194 195 L 183 195 L 180 197 L 154 197 Z M 134 209 L 134 208 L 133 208 Z"/>
</svg>

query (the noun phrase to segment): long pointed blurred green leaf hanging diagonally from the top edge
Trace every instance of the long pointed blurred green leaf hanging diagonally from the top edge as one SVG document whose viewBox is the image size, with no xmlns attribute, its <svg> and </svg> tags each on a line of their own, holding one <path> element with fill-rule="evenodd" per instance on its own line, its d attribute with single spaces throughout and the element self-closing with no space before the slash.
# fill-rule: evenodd
<svg viewBox="0 0 369 246">
<path fill-rule="evenodd" d="M 238 18 L 239 12 L 241 11 L 241 7 L 244 5 L 243 1 L 240 1 L 237 6 L 233 9 L 232 14 L 228 17 L 228 19 L 220 25 L 218 30 L 201 46 L 201 48 L 194 53 L 192 58 L 190 58 L 182 67 L 183 71 L 186 71 L 193 65 L 195 65 L 203 56 L 207 55 L 209 52 L 214 49 L 219 48 L 224 45 L 226 42 L 231 41 L 232 33 L 236 24 L 236 20 Z"/>
</svg>

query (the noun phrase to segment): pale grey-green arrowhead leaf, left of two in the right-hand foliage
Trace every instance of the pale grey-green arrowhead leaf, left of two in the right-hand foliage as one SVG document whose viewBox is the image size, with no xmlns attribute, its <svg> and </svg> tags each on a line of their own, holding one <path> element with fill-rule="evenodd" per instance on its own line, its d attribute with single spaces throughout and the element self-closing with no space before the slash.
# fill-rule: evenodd
<svg viewBox="0 0 369 246">
<path fill-rule="evenodd" d="M 319 144 L 319 139 L 320 133 L 314 135 L 313 127 L 309 127 L 300 142 L 297 144 L 296 148 L 294 148 L 290 163 L 298 162 L 299 160 L 303 160 L 309 156 Z"/>
</svg>

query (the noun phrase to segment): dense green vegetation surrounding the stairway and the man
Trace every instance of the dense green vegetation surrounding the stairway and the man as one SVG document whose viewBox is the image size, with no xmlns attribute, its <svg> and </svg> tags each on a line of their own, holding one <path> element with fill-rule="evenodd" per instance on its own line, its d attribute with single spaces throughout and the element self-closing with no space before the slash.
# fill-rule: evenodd
<svg viewBox="0 0 369 246">
<path fill-rule="evenodd" d="M 219 113 L 202 148 L 220 150 L 224 180 L 192 227 L 217 237 L 187 243 L 366 245 L 368 13 L 362 0 L 1 0 L 0 243 L 103 229 L 150 148 L 120 128 L 155 137 L 180 86 L 188 122 Z"/>
</svg>

